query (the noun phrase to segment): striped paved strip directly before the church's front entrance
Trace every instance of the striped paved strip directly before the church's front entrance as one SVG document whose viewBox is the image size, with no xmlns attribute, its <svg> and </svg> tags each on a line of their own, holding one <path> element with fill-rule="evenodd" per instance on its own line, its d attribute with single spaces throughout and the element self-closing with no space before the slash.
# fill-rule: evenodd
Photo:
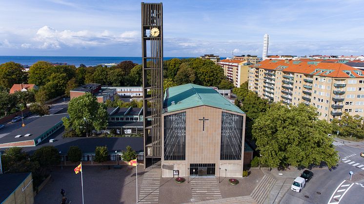
<svg viewBox="0 0 364 204">
<path fill-rule="evenodd" d="M 221 192 L 217 182 L 214 178 L 198 178 L 195 177 L 191 180 L 191 202 L 221 199 Z"/>
</svg>

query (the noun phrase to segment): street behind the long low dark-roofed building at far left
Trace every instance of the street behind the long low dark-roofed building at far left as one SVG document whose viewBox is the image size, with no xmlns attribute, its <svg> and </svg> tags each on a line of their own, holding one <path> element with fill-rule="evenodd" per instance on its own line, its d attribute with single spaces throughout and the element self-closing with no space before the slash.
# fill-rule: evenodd
<svg viewBox="0 0 364 204">
<path fill-rule="evenodd" d="M 60 112 L 66 111 L 68 102 L 69 102 L 69 98 L 65 98 L 64 101 L 63 101 L 63 98 L 61 98 L 57 101 L 54 101 L 52 104 L 50 104 L 49 113 L 55 114 L 55 113 L 60 113 Z M 39 117 L 40 117 L 39 115 L 35 115 L 35 114 L 33 114 L 29 117 L 26 117 L 26 118 L 24 118 L 24 124 L 27 125 Z M 18 128 L 21 128 L 21 124 L 22 124 L 21 120 L 16 123 L 12 123 L 11 121 L 4 123 L 3 125 L 5 125 L 5 127 L 0 130 L 0 138 L 11 133 L 14 130 L 17 130 Z"/>
</svg>

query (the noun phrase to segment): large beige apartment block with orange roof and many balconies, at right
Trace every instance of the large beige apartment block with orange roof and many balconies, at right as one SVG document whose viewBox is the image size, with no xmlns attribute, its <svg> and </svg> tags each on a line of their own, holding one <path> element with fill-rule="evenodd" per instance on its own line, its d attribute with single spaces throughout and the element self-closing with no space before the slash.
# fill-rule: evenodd
<svg viewBox="0 0 364 204">
<path fill-rule="evenodd" d="M 267 59 L 249 68 L 249 90 L 271 102 L 317 108 L 320 119 L 364 116 L 364 71 L 339 62 Z"/>
</svg>

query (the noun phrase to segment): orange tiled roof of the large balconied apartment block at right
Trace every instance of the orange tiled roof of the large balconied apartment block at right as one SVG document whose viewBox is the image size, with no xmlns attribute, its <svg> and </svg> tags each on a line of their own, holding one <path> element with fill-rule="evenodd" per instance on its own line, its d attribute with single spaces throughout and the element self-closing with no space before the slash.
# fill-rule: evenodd
<svg viewBox="0 0 364 204">
<path fill-rule="evenodd" d="M 278 70 L 290 73 L 328 76 L 334 78 L 364 78 L 364 72 L 362 70 L 350 67 L 346 64 L 322 63 L 320 61 L 313 60 L 307 61 L 266 59 L 250 67 L 262 68 L 266 70 Z"/>
</svg>

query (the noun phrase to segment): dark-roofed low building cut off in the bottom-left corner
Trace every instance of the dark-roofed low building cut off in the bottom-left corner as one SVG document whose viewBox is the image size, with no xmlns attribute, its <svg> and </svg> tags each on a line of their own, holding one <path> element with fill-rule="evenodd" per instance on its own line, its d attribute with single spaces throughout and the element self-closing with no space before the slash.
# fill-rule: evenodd
<svg viewBox="0 0 364 204">
<path fill-rule="evenodd" d="M 0 174 L 0 204 L 34 204 L 32 173 Z"/>
</svg>

